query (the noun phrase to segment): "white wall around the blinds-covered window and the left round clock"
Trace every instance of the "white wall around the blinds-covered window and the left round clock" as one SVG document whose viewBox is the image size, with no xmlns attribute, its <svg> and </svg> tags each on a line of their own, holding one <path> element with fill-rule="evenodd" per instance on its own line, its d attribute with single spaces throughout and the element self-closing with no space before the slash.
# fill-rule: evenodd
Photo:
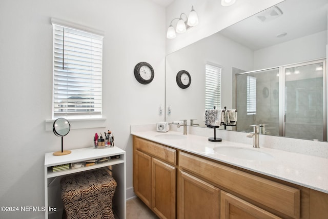
<svg viewBox="0 0 328 219">
<path fill-rule="evenodd" d="M 95 132 L 111 130 L 115 145 L 127 151 L 127 188 L 131 188 L 130 124 L 164 120 L 158 107 L 165 104 L 165 8 L 148 0 L 2 0 L 1 206 L 44 206 L 44 154 L 60 150 L 60 138 L 45 130 L 52 111 L 51 17 L 105 33 L 106 127 L 71 130 L 64 137 L 65 149 L 92 146 Z M 149 85 L 139 84 L 133 74 L 142 61 L 155 70 Z M 44 212 L 0 212 L 0 218 L 44 218 Z"/>
</svg>

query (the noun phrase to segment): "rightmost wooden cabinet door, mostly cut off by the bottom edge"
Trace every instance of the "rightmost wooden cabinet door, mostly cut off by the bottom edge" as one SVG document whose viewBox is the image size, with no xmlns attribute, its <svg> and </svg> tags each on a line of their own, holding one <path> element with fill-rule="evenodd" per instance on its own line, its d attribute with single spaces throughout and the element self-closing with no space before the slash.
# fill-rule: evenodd
<svg viewBox="0 0 328 219">
<path fill-rule="evenodd" d="M 268 211 L 252 205 L 230 193 L 221 191 L 221 219 L 276 219 Z"/>
</svg>

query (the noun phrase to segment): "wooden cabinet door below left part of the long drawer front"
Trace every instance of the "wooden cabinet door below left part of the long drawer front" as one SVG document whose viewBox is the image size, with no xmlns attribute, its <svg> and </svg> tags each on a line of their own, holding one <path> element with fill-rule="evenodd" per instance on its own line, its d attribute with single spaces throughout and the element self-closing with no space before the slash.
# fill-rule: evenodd
<svg viewBox="0 0 328 219">
<path fill-rule="evenodd" d="M 178 218 L 219 218 L 220 190 L 179 171 Z"/>
</svg>

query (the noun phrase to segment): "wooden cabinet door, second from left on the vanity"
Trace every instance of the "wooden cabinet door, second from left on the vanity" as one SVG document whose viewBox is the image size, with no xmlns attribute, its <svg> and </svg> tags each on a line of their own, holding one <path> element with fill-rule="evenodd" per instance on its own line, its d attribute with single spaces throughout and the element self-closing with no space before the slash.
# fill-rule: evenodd
<svg viewBox="0 0 328 219">
<path fill-rule="evenodd" d="M 175 218 L 176 168 L 152 158 L 152 209 L 160 218 Z"/>
</svg>

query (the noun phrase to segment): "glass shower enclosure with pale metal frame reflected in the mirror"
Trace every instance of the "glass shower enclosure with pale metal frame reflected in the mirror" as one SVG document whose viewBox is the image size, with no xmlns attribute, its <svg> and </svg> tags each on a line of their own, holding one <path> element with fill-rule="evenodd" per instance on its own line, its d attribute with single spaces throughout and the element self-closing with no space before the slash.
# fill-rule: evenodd
<svg viewBox="0 0 328 219">
<path fill-rule="evenodd" d="M 326 141 L 325 59 L 236 74 L 236 131 Z"/>
</svg>

